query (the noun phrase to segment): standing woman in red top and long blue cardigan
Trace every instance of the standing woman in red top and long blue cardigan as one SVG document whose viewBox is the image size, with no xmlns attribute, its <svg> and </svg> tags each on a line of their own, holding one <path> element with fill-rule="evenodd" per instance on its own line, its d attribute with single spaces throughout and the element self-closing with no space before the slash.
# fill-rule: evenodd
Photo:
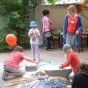
<svg viewBox="0 0 88 88">
<path fill-rule="evenodd" d="M 73 49 L 81 48 L 81 16 L 76 13 L 76 7 L 70 5 L 67 8 L 63 25 L 63 38 L 66 44 L 70 44 Z"/>
</svg>

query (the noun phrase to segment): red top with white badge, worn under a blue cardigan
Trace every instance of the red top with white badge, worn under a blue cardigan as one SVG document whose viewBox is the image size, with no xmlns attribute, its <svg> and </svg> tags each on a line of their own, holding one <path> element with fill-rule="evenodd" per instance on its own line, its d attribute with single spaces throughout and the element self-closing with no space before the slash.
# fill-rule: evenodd
<svg viewBox="0 0 88 88">
<path fill-rule="evenodd" d="M 77 24 L 78 24 L 78 16 L 76 16 L 74 18 L 72 18 L 71 16 L 68 16 L 68 28 L 67 28 L 67 32 L 76 33 Z"/>
</svg>

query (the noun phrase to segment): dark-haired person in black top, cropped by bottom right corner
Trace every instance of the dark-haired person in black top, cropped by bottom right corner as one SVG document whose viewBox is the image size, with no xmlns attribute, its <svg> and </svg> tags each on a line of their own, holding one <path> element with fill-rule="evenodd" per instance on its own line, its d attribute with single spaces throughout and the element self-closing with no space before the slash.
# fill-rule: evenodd
<svg viewBox="0 0 88 88">
<path fill-rule="evenodd" d="M 72 81 L 72 88 L 88 88 L 88 64 L 81 63 Z"/>
</svg>

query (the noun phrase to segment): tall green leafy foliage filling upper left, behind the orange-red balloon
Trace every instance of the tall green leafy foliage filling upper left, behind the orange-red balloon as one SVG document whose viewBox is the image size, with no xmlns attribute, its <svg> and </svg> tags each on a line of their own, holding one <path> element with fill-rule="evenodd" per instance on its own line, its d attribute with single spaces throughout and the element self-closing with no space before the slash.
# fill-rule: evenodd
<svg viewBox="0 0 88 88">
<path fill-rule="evenodd" d="M 40 2 L 41 0 L 0 0 L 0 15 L 5 23 L 4 29 L 0 30 L 0 50 L 12 48 L 5 41 L 8 33 L 16 34 L 17 44 L 24 48 L 29 47 L 26 30 L 29 24 L 28 16 L 30 9 L 35 8 Z"/>
</svg>

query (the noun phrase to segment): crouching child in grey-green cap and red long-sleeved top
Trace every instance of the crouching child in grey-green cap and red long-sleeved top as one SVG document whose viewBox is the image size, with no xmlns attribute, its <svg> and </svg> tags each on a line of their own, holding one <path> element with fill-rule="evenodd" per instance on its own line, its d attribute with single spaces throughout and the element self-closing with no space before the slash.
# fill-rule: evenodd
<svg viewBox="0 0 88 88">
<path fill-rule="evenodd" d="M 63 51 L 66 54 L 66 61 L 60 65 L 60 68 L 71 66 L 72 72 L 69 75 L 70 78 L 74 78 L 74 75 L 77 73 L 77 67 L 80 64 L 80 59 L 75 51 L 72 50 L 69 44 L 63 46 Z"/>
</svg>

